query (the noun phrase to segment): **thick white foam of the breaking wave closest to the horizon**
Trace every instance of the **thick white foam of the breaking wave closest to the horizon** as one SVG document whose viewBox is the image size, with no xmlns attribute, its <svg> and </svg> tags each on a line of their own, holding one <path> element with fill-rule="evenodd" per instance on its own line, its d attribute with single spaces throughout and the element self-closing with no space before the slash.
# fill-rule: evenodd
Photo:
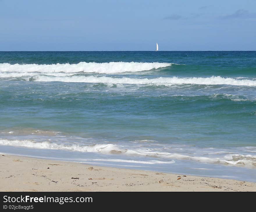
<svg viewBox="0 0 256 212">
<path fill-rule="evenodd" d="M 148 71 L 170 66 L 171 63 L 159 62 L 79 62 L 78 64 L 10 64 L 0 63 L 1 72 L 40 72 L 40 73 L 123 73 Z"/>
</svg>

